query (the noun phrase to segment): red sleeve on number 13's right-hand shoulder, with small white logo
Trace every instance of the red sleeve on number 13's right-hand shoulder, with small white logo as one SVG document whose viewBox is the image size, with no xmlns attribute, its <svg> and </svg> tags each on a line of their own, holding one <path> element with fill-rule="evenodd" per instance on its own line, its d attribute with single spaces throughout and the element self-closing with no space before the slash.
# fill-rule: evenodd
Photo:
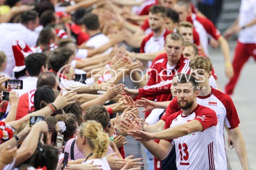
<svg viewBox="0 0 256 170">
<path fill-rule="evenodd" d="M 199 109 L 196 111 L 194 120 L 197 120 L 202 124 L 203 131 L 218 124 L 216 113 L 212 109 L 201 105 L 199 105 Z"/>
</svg>

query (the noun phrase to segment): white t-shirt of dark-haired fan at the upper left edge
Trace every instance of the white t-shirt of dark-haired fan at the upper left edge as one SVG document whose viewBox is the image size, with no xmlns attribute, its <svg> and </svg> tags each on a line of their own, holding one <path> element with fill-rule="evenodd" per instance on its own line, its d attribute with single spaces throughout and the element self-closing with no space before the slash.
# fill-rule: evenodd
<svg viewBox="0 0 256 170">
<path fill-rule="evenodd" d="M 38 33 L 29 30 L 21 23 L 1 23 L 0 24 L 0 50 L 7 56 L 7 66 L 4 72 L 12 75 L 12 69 L 15 66 L 12 52 L 12 42 L 15 40 L 24 41 L 29 47 L 36 46 Z"/>
</svg>

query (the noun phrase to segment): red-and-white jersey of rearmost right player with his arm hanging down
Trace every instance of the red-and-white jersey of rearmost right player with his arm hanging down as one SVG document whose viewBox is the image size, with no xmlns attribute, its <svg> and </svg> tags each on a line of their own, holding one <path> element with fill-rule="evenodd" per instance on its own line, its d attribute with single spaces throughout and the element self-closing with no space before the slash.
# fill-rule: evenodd
<svg viewBox="0 0 256 170">
<path fill-rule="evenodd" d="M 204 48 L 204 53 L 209 56 L 208 51 L 208 35 L 212 38 L 218 40 L 220 35 L 220 31 L 215 28 L 212 21 L 207 18 L 203 18 L 201 16 L 197 16 L 196 14 L 192 14 L 187 18 L 188 22 L 193 23 L 195 29 L 199 33 L 200 42 Z"/>
</svg>

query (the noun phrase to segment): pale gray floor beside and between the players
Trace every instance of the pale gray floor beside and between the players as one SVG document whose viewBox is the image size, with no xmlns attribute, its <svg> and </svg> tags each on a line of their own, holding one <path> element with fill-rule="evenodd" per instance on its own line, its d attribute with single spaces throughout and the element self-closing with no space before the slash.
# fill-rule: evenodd
<svg viewBox="0 0 256 170">
<path fill-rule="evenodd" d="M 235 48 L 235 42 L 230 42 L 230 56 L 233 58 L 234 55 L 234 48 Z M 225 76 L 225 64 L 222 57 L 222 54 L 220 52 L 220 49 L 210 50 L 210 58 L 212 60 L 214 70 L 217 73 L 218 76 L 218 83 L 221 87 L 221 90 L 224 89 L 225 84 L 228 82 L 228 78 Z M 255 128 L 255 122 L 256 122 L 256 116 L 253 115 L 256 113 L 256 89 L 255 89 L 255 83 L 256 83 L 256 63 L 253 60 L 253 58 L 250 58 L 250 60 L 244 65 L 244 68 L 241 72 L 238 84 L 236 86 L 234 95 L 231 96 L 233 99 L 241 124 L 239 125 L 246 143 L 246 149 L 247 149 L 247 155 L 249 160 L 249 166 L 251 170 L 256 170 L 256 130 L 253 130 Z M 130 83 L 125 83 L 130 84 Z M 141 148 L 143 146 L 140 146 L 140 143 L 137 141 L 134 141 L 132 138 L 127 137 L 128 144 L 125 146 L 125 152 L 126 155 L 132 155 L 135 154 L 135 157 L 142 157 L 143 161 L 145 163 L 145 169 L 147 168 L 146 163 L 146 156 L 145 151 Z M 227 141 L 227 138 L 226 138 Z M 242 169 L 239 159 L 236 155 L 235 149 L 227 149 L 227 157 L 228 157 L 228 163 L 229 163 L 229 169 L 231 170 L 238 170 Z"/>
</svg>

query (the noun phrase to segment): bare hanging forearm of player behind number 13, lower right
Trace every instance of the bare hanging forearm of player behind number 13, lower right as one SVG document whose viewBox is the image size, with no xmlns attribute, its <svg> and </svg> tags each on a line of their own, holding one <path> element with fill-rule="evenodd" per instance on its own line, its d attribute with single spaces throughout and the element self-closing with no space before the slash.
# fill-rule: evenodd
<svg viewBox="0 0 256 170">
<path fill-rule="evenodd" d="M 243 169 L 249 169 L 244 137 L 239 127 L 230 130 L 236 154 Z"/>
</svg>

